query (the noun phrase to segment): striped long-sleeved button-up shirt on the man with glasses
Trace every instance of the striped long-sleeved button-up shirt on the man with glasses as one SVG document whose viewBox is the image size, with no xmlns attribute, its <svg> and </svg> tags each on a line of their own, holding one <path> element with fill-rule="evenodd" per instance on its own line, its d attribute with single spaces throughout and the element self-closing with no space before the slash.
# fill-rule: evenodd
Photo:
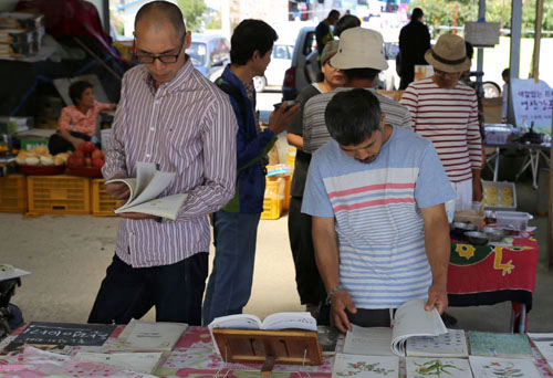
<svg viewBox="0 0 553 378">
<path fill-rule="evenodd" d="M 188 60 L 156 91 L 139 65 L 123 77 L 107 144 L 104 178 L 136 177 L 136 162 L 156 162 L 177 176 L 160 197 L 188 193 L 176 221 L 122 219 L 115 252 L 134 267 L 177 263 L 208 252 L 207 214 L 234 193 L 237 122 L 228 96 Z"/>
</svg>

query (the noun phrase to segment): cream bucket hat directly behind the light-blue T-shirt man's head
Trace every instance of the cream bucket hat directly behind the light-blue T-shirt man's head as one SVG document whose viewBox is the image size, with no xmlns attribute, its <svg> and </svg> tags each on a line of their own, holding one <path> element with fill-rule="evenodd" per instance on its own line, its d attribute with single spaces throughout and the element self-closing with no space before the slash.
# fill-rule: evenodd
<svg viewBox="0 0 553 378">
<path fill-rule="evenodd" d="M 344 30 L 340 34 L 338 52 L 331 59 L 331 64 L 340 70 L 387 70 L 382 34 L 364 28 Z"/>
</svg>

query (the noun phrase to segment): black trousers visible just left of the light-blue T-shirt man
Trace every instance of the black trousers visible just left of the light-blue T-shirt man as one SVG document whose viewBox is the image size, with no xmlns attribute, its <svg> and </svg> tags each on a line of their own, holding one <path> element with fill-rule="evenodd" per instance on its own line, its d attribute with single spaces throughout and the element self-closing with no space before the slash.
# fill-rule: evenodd
<svg viewBox="0 0 553 378">
<path fill-rule="evenodd" d="M 311 237 L 311 217 L 301 212 L 302 197 L 290 199 L 288 234 L 295 265 L 295 283 L 302 304 L 319 304 L 325 298 Z"/>
</svg>

